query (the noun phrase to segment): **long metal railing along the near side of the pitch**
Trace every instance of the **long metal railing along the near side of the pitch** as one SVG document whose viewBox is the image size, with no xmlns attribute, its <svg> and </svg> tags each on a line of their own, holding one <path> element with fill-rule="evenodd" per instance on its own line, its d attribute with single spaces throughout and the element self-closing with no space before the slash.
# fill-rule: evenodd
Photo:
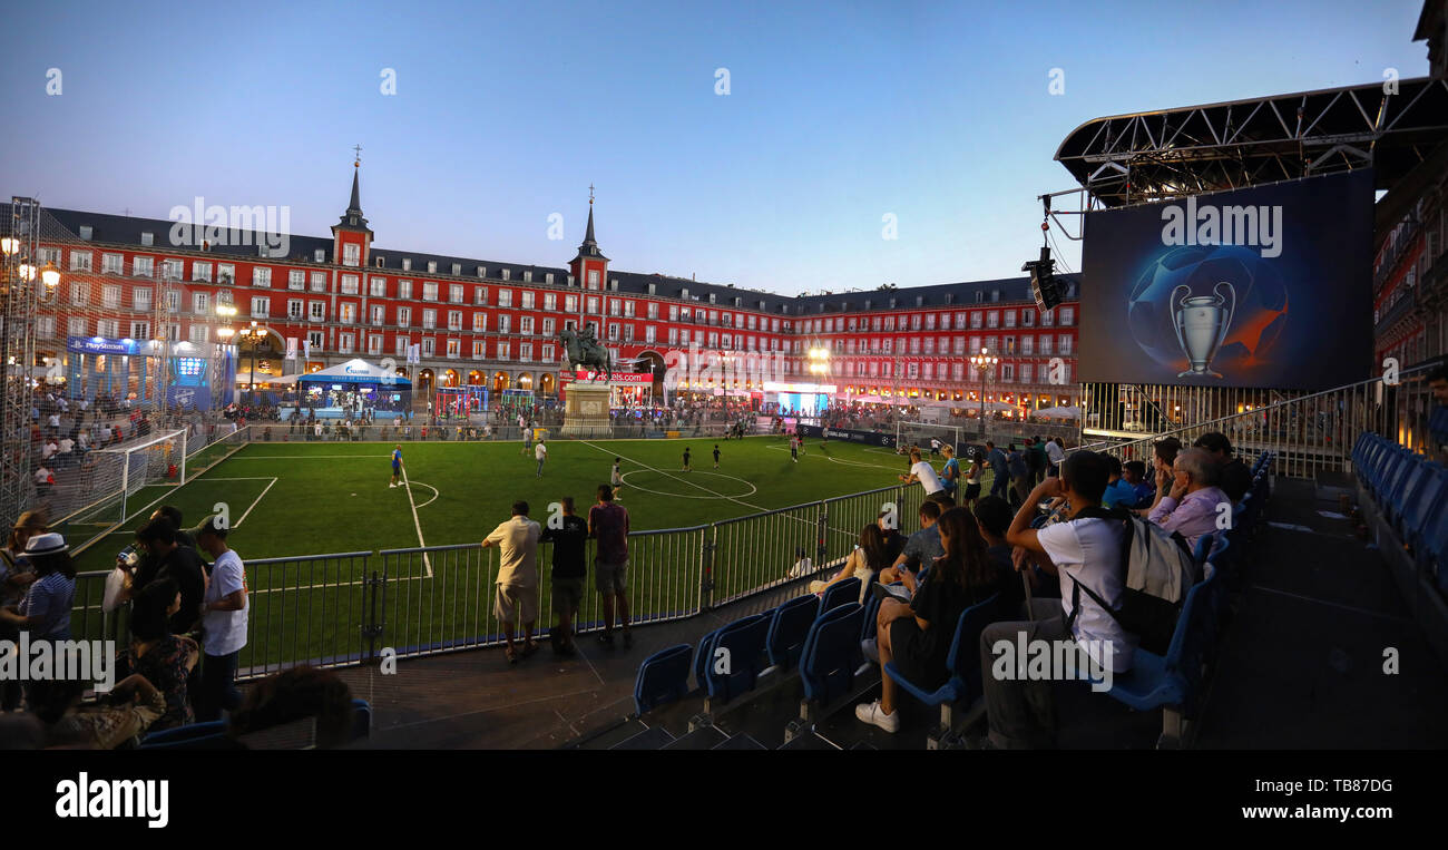
<svg viewBox="0 0 1448 850">
<path fill-rule="evenodd" d="M 886 487 L 688 529 L 628 536 L 630 623 L 663 623 L 762 594 L 799 578 L 833 572 L 860 530 L 893 511 L 912 527 L 922 491 Z M 807 572 L 791 575 L 801 553 Z M 557 621 L 553 547 L 537 552 L 536 633 Z M 594 543 L 586 547 L 592 562 Z M 109 571 L 75 576 L 71 627 L 78 639 L 127 640 L 127 607 L 103 611 Z M 269 557 L 246 563 L 248 641 L 239 678 L 256 679 L 290 666 L 352 666 L 502 643 L 495 611 L 498 550 L 479 544 Z M 578 633 L 602 627 L 602 602 L 589 586 L 575 621 Z M 521 624 L 514 624 L 521 637 Z"/>
</svg>

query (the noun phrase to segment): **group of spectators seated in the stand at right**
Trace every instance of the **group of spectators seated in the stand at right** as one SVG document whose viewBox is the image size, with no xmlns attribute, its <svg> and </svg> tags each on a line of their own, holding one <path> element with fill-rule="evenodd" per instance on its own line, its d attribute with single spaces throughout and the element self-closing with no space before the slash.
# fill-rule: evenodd
<svg viewBox="0 0 1448 850">
<path fill-rule="evenodd" d="M 1129 670 L 1138 637 L 1114 614 L 1125 586 L 1125 520 L 1135 514 L 1190 552 L 1203 534 L 1224 527 L 1221 517 L 1251 488 L 1251 471 L 1215 432 L 1192 446 L 1176 437 L 1157 442 L 1150 472 L 1144 462 L 1122 465 L 1083 449 L 1066 455 L 1060 442 L 1028 440 L 1024 447 L 988 443 L 961 476 L 953 446 L 933 450 L 946 459 L 941 471 L 911 446 L 911 471 L 901 476 L 925 491 L 917 530 L 905 537 L 893 513 L 882 513 L 860 531 L 843 569 L 811 582 L 809 592 L 860 578 L 862 602 L 869 592 L 882 598 L 876 639 L 864 641 L 863 652 L 882 666 L 893 660 L 927 691 L 950 676 L 946 653 L 960 615 L 996 599 L 996 621 L 979 646 L 989 734 L 973 741 L 988 749 L 1056 741 L 1051 682 L 990 675 L 992 647 L 1018 636 L 1074 641 L 1095 653 L 1092 662 L 1102 669 Z M 995 485 L 982 497 L 983 468 L 993 471 Z M 961 478 L 964 504 L 957 505 Z M 893 733 L 901 725 L 896 702 L 898 686 L 885 676 L 880 698 L 859 705 L 856 715 Z"/>
</svg>

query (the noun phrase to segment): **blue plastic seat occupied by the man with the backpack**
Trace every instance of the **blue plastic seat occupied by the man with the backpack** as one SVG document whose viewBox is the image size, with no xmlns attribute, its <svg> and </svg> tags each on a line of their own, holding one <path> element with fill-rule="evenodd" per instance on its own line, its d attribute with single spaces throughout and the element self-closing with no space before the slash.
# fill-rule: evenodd
<svg viewBox="0 0 1448 850">
<path fill-rule="evenodd" d="M 1182 615 L 1167 647 L 1167 655 L 1158 656 L 1137 649 L 1129 670 L 1118 673 L 1111 691 L 1112 698 L 1137 711 L 1163 710 L 1163 741 L 1177 743 L 1182 734 L 1182 714 L 1196 697 L 1202 678 L 1202 666 L 1215 634 L 1208 623 L 1212 610 L 1209 594 L 1218 592 L 1221 582 L 1215 565 L 1211 575 L 1187 591 Z"/>
</svg>

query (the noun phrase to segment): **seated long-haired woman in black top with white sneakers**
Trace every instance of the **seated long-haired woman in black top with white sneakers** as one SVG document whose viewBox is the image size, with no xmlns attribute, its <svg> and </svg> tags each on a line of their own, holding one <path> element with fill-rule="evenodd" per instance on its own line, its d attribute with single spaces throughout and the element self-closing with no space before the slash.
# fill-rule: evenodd
<svg viewBox="0 0 1448 850">
<path fill-rule="evenodd" d="M 1011 578 L 988 553 L 970 511 L 951 508 L 937 523 L 946 553 L 931 566 L 908 605 L 885 599 L 877 618 L 880 666 L 893 660 L 906 679 L 927 689 L 935 689 L 950 679 L 946 657 L 960 615 L 966 608 L 990 598 Z M 885 731 L 896 731 L 899 715 L 895 712 L 895 682 L 886 675 L 880 699 L 857 705 L 856 717 Z"/>
</svg>

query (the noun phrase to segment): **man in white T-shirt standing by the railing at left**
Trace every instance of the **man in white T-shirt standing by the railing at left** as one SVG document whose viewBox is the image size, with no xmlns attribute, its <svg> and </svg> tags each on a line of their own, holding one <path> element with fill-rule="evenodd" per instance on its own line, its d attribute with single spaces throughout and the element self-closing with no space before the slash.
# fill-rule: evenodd
<svg viewBox="0 0 1448 850">
<path fill-rule="evenodd" d="M 197 689 L 197 721 L 220 720 L 222 710 L 242 704 L 236 689 L 236 662 L 246 646 L 246 565 L 226 546 L 229 529 L 220 516 L 207 517 L 195 531 L 195 544 L 214 559 L 211 579 L 201 597 L 201 686 Z"/>
</svg>

